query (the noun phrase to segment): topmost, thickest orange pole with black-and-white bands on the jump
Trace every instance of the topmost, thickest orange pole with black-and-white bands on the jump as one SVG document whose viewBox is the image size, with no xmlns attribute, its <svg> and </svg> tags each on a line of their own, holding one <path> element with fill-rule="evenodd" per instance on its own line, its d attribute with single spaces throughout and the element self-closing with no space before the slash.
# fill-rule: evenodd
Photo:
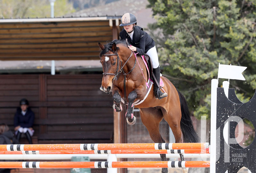
<svg viewBox="0 0 256 173">
<path fill-rule="evenodd" d="M 59 150 L 172 150 L 205 149 L 209 143 L 133 143 L 133 144 L 15 144 L 0 145 L 0 151 Z"/>
</svg>

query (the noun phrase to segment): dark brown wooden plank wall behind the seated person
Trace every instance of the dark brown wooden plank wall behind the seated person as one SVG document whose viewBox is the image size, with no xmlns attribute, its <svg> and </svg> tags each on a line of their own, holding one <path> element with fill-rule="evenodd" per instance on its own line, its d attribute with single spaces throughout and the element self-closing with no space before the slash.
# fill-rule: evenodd
<svg viewBox="0 0 256 173">
<path fill-rule="evenodd" d="M 0 75 L 0 121 L 13 130 L 21 98 L 34 111 L 38 143 L 113 143 L 112 96 L 101 74 Z"/>
</svg>

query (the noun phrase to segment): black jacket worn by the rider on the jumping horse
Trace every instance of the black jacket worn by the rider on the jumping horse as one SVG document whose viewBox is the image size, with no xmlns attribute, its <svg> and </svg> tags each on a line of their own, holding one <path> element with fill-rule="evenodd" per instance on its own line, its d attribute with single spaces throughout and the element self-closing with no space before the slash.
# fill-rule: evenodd
<svg viewBox="0 0 256 173">
<path fill-rule="evenodd" d="M 125 40 L 128 39 L 128 43 L 130 43 L 132 46 L 137 48 L 137 52 L 140 55 L 144 55 L 148 52 L 149 49 L 153 48 L 155 46 L 154 40 L 150 37 L 148 33 L 143 31 L 143 28 L 140 26 L 135 26 L 133 31 L 132 40 L 130 38 L 130 35 L 127 34 L 127 32 L 122 29 L 120 32 L 120 39 Z"/>
</svg>

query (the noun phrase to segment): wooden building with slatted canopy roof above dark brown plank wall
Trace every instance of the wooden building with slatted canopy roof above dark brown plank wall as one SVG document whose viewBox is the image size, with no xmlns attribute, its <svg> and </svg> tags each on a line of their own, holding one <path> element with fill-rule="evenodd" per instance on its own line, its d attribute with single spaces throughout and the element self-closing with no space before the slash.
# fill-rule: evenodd
<svg viewBox="0 0 256 173">
<path fill-rule="evenodd" d="M 0 19 L 0 60 L 99 59 L 98 42 L 118 39 L 121 16 Z M 112 97 L 102 74 L 0 75 L 0 121 L 13 129 L 21 98 L 35 112 L 37 143 L 113 143 Z"/>
</svg>

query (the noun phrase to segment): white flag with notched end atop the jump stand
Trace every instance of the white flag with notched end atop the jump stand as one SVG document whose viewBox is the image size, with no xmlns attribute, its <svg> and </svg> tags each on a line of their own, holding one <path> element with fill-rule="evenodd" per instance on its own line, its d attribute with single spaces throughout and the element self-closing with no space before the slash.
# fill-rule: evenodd
<svg viewBox="0 0 256 173">
<path fill-rule="evenodd" d="M 245 80 L 242 72 L 247 67 L 219 64 L 218 78 Z"/>
</svg>

